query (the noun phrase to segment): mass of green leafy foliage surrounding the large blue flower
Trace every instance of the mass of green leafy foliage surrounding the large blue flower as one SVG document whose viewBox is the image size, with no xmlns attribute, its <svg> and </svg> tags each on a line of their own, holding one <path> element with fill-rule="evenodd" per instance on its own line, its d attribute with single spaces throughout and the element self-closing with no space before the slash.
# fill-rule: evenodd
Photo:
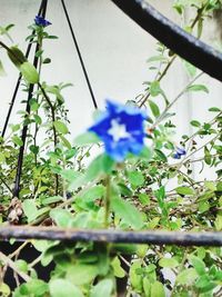
<svg viewBox="0 0 222 297">
<path fill-rule="evenodd" d="M 212 0 L 178 0 L 174 7 L 179 13 L 183 13 L 186 6 L 196 9 L 196 18 L 186 29 L 190 27 L 192 31 L 198 23 L 200 37 L 201 22 L 220 4 Z M 0 34 L 8 36 L 10 28 L 12 26 L 0 28 Z M 12 125 L 9 136 L 0 138 L 1 224 L 12 218 L 12 212 L 19 208 L 12 224 L 40 224 L 49 228 L 222 230 L 222 110 L 210 108 L 210 121 L 193 119 L 193 133 L 182 136 L 179 145 L 173 141 L 172 106 L 186 92 L 209 92 L 206 86 L 195 83 L 201 76 L 198 70 L 183 61 L 191 82 L 170 100 L 161 80 L 176 56 L 159 43 L 158 55 L 149 59 L 154 79 L 145 82 L 144 93 L 133 102 L 145 106 L 149 111 L 148 146 L 139 156 L 129 155 L 121 164 L 105 154 L 89 161 L 93 148 L 100 149 L 101 143 L 90 132 L 81 135 L 73 143 L 69 140 L 62 90 L 70 85 L 48 86 L 40 81 L 41 67 L 51 61 L 44 57 L 43 41 L 54 37 L 43 27 L 33 24 L 30 28 L 32 33 L 28 40 L 39 44 L 38 72 L 18 48 L 8 48 L 17 66 L 17 57 L 20 57 L 18 68 L 23 75 L 24 95 L 30 83 L 36 83 L 37 88 L 29 100 L 30 111 L 20 111 L 20 123 Z M 21 139 L 23 126 L 28 127 L 26 143 Z M 47 135 L 43 141 L 42 132 Z M 22 146 L 26 149 L 20 195 L 12 204 L 18 149 Z M 185 148 L 186 155 L 175 162 L 173 156 L 178 146 Z M 202 154 L 201 157 L 193 158 L 196 152 Z M 201 170 L 213 168 L 215 178 L 195 180 L 194 162 L 202 165 Z M 127 296 L 142 297 L 222 296 L 221 248 L 47 240 L 31 240 L 31 244 L 40 253 L 32 263 L 19 258 L 22 246 L 8 256 L 10 261 L 0 253 L 2 269 L 9 265 L 16 276 L 26 280 L 21 285 L 18 280 L 14 297 L 112 297 L 122 290 Z M 34 267 L 39 263 L 46 269 L 51 263 L 54 265 L 48 283 L 38 277 Z M 0 293 L 2 296 L 12 294 L 3 281 Z"/>
</svg>

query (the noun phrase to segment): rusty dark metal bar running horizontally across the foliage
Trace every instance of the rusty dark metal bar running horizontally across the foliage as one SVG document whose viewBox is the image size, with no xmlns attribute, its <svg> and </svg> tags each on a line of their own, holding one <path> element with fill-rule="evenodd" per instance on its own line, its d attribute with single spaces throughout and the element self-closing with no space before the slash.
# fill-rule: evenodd
<svg viewBox="0 0 222 297">
<path fill-rule="evenodd" d="M 49 239 L 64 241 L 100 241 L 178 246 L 222 246 L 222 232 L 121 231 L 62 229 L 57 227 L 0 227 L 0 239 Z"/>
</svg>

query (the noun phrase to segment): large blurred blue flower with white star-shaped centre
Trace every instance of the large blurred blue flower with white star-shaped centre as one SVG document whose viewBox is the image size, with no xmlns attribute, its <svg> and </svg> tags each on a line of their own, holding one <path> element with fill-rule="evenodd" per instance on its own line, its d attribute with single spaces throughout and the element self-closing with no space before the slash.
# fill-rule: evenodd
<svg viewBox="0 0 222 297">
<path fill-rule="evenodd" d="M 89 128 L 104 142 L 105 152 L 121 162 L 129 152 L 139 155 L 144 146 L 147 115 L 139 108 L 107 100 L 107 110 Z"/>
</svg>

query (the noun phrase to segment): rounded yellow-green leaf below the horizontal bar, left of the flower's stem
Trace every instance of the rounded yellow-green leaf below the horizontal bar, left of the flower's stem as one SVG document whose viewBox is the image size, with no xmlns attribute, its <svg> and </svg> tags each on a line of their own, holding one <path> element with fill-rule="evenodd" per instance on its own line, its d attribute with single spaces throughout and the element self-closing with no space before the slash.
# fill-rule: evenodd
<svg viewBox="0 0 222 297">
<path fill-rule="evenodd" d="M 95 265 L 75 264 L 67 269 L 67 279 L 77 286 L 90 284 L 99 274 Z"/>
</svg>

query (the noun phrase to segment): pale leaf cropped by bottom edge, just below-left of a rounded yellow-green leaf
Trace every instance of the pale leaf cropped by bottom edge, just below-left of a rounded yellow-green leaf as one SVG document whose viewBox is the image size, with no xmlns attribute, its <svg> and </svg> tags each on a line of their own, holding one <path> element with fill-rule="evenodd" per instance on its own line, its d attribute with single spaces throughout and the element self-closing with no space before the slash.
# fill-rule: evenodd
<svg viewBox="0 0 222 297">
<path fill-rule="evenodd" d="M 81 290 L 67 279 L 52 279 L 49 283 L 51 297 L 84 297 Z"/>
</svg>

